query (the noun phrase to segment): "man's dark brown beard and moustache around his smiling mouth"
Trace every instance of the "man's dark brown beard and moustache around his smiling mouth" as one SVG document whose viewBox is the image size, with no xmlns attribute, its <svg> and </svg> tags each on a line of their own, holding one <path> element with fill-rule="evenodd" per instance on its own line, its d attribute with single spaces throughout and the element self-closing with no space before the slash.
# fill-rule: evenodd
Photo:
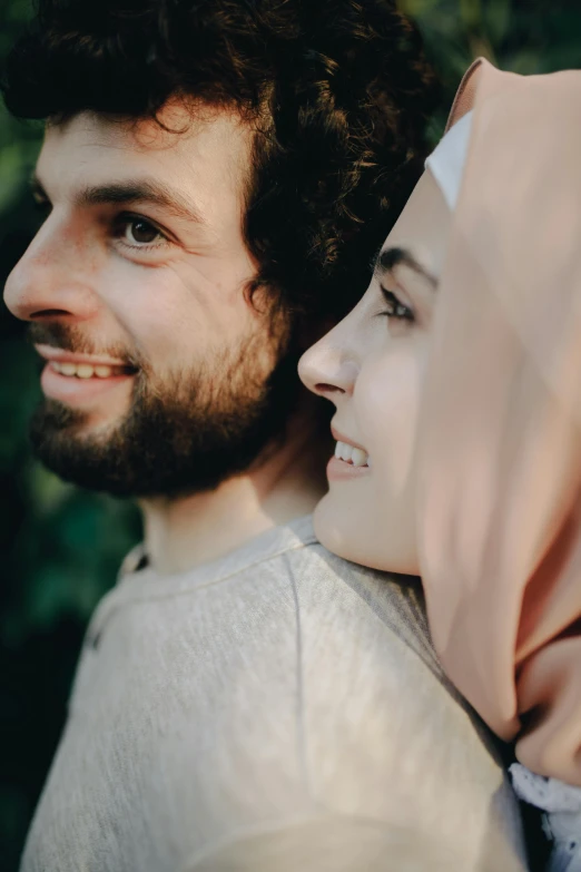
<svg viewBox="0 0 581 872">
<path fill-rule="evenodd" d="M 62 325 L 32 325 L 30 339 L 97 353 Z M 210 363 L 163 379 L 135 355 L 110 350 L 137 370 L 127 415 L 106 432 L 83 433 L 83 412 L 46 399 L 31 421 L 35 453 L 63 480 L 116 497 L 213 490 L 284 437 L 299 388 L 293 344 L 288 325 L 263 329 Z"/>
</svg>

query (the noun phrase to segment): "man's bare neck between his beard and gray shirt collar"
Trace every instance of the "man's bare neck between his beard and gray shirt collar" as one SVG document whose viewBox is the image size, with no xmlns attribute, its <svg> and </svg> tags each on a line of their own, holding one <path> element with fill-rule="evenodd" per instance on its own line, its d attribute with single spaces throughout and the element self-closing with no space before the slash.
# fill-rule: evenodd
<svg viewBox="0 0 581 872">
<path fill-rule="evenodd" d="M 321 431 L 321 428 L 318 428 Z M 145 500 L 145 546 L 161 575 L 184 572 L 234 551 L 266 530 L 308 515 L 326 490 L 328 442 L 316 415 L 297 414 L 284 444 L 216 490 Z"/>
</svg>

